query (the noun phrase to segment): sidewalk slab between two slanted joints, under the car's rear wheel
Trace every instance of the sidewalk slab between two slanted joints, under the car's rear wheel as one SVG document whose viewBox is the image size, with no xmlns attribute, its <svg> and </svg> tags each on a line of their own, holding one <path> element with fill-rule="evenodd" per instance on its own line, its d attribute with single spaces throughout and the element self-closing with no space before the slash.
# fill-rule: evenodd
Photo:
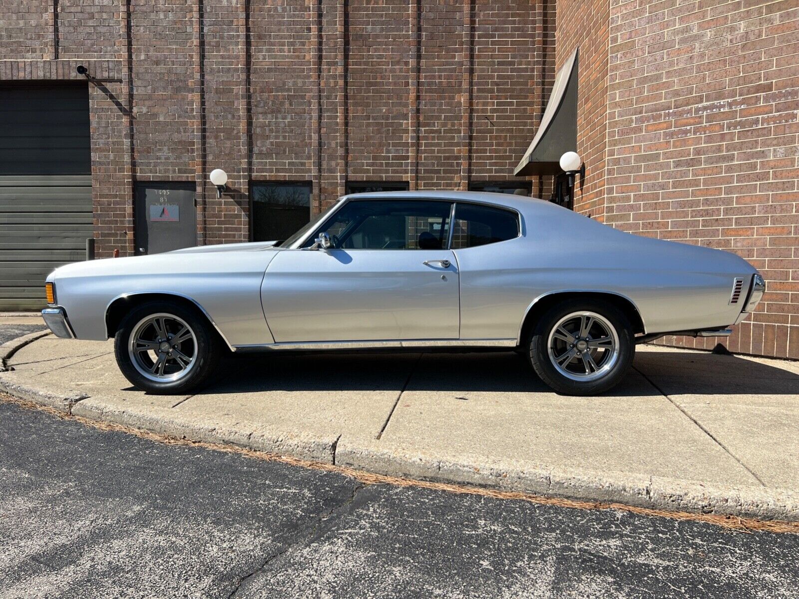
<svg viewBox="0 0 799 599">
<path fill-rule="evenodd" d="M 346 439 L 344 439 L 346 442 Z M 602 397 L 555 395 L 515 355 L 425 355 L 380 439 L 447 461 L 758 484 L 718 443 L 631 372 Z"/>
</svg>

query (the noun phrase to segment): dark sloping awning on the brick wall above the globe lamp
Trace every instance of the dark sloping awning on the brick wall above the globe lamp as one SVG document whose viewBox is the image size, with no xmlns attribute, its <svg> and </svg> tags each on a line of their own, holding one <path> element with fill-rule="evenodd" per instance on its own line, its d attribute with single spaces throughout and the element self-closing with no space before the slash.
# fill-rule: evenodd
<svg viewBox="0 0 799 599">
<path fill-rule="evenodd" d="M 555 74 L 547 108 L 539 130 L 513 174 L 555 175 L 565 152 L 577 149 L 577 54 L 578 48 Z"/>
</svg>

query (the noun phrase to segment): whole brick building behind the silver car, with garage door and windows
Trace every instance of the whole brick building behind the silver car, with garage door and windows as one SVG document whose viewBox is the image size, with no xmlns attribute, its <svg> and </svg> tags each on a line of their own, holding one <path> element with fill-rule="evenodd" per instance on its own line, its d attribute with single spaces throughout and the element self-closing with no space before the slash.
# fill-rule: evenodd
<svg viewBox="0 0 799 599">
<path fill-rule="evenodd" d="M 574 209 L 752 261 L 731 348 L 799 358 L 797 32 L 790 1 L 0 0 L 0 307 L 81 236 L 157 251 L 153 205 L 213 244 L 360 188 L 549 197 L 514 169 L 579 46 Z"/>
</svg>

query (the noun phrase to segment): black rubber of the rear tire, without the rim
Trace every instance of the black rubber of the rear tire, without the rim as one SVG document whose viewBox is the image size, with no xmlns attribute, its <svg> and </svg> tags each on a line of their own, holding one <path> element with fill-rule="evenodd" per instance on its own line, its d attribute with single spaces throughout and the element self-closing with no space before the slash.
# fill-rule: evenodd
<svg viewBox="0 0 799 599">
<path fill-rule="evenodd" d="M 619 352 L 615 366 L 603 376 L 590 382 L 574 381 L 562 375 L 551 363 L 548 351 L 549 335 L 555 323 L 578 311 L 591 311 L 605 317 L 616 329 Z M 596 395 L 616 386 L 626 375 L 635 355 L 635 339 L 624 312 L 602 300 L 567 300 L 547 310 L 533 327 L 528 343 L 530 361 L 536 374 L 562 395 Z"/>
</svg>

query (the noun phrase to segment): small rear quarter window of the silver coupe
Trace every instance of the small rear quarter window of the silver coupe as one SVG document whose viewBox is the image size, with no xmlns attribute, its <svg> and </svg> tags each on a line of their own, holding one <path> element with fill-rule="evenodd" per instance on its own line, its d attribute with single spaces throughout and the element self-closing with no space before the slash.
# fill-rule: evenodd
<svg viewBox="0 0 799 599">
<path fill-rule="evenodd" d="M 495 244 L 519 236 L 515 212 L 479 204 L 455 204 L 452 249 Z"/>
</svg>

